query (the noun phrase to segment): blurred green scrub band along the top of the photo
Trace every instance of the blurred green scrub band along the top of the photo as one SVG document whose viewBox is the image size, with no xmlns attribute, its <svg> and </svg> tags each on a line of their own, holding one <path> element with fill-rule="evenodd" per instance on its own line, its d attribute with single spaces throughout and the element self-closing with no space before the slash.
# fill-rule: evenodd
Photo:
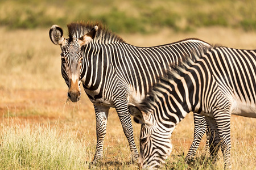
<svg viewBox="0 0 256 170">
<path fill-rule="evenodd" d="M 11 29 L 62 27 L 79 20 L 97 20 L 114 32 L 152 33 L 162 27 L 191 31 L 197 27 L 242 28 L 256 30 L 253 0 L 231 1 L 32 1 L 0 2 L 0 24 Z"/>
</svg>

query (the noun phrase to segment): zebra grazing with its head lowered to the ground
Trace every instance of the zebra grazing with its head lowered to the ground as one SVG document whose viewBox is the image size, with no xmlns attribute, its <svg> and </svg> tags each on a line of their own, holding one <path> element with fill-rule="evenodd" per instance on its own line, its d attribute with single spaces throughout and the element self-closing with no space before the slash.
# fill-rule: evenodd
<svg viewBox="0 0 256 170">
<path fill-rule="evenodd" d="M 141 168 L 165 162 L 171 133 L 189 112 L 205 116 L 210 133 L 219 138 L 225 168 L 231 168 L 230 116 L 256 118 L 256 50 L 214 47 L 196 58 L 183 59 L 141 103 L 129 105 L 142 123 Z"/>
</svg>

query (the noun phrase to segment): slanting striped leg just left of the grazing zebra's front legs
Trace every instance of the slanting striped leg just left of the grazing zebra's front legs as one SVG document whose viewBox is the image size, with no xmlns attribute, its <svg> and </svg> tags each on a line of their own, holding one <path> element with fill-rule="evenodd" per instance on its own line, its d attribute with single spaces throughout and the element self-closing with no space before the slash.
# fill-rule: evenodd
<svg viewBox="0 0 256 170">
<path fill-rule="evenodd" d="M 185 157 L 185 162 L 189 163 L 191 159 L 196 154 L 196 150 L 199 147 L 199 144 L 201 142 L 201 139 L 203 138 L 203 135 L 205 131 L 207 131 L 207 124 L 205 121 L 205 117 L 201 114 L 194 113 L 194 138 L 191 147 L 188 150 L 188 154 Z"/>
</svg>

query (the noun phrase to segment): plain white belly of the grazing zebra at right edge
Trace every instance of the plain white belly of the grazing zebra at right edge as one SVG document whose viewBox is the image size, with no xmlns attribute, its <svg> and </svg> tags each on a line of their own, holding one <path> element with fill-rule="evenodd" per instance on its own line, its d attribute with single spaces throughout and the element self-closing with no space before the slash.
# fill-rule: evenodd
<svg viewBox="0 0 256 170">
<path fill-rule="evenodd" d="M 232 114 L 256 118 L 256 105 L 244 103 L 240 100 L 233 100 Z"/>
</svg>

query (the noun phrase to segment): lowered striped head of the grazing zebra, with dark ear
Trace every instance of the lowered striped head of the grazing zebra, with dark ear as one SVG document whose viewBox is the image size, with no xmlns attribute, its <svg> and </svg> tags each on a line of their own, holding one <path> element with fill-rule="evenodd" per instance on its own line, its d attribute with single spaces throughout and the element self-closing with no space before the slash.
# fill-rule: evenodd
<svg viewBox="0 0 256 170">
<path fill-rule="evenodd" d="M 151 113 L 134 105 L 129 105 L 129 112 L 134 121 L 141 124 L 139 168 L 158 169 L 171 154 L 171 132 L 161 127 Z"/>
</svg>

